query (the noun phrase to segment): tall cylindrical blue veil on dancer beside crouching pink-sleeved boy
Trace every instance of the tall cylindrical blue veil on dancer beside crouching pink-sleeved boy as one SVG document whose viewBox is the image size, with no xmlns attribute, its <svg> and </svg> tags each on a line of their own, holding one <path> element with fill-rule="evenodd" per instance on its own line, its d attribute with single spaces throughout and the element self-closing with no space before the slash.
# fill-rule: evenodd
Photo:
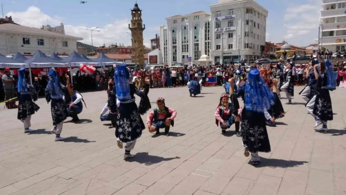
<svg viewBox="0 0 346 195">
<path fill-rule="evenodd" d="M 126 65 L 118 65 L 114 71 L 114 87 L 119 101 L 131 100 L 129 71 Z"/>
</svg>

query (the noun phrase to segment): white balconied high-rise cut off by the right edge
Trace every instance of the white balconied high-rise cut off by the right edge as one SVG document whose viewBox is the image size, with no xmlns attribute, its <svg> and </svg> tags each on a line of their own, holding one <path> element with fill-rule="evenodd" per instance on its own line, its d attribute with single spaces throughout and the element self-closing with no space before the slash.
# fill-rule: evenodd
<svg viewBox="0 0 346 195">
<path fill-rule="evenodd" d="M 346 1 L 322 0 L 320 46 L 344 51 L 346 46 Z"/>
</svg>

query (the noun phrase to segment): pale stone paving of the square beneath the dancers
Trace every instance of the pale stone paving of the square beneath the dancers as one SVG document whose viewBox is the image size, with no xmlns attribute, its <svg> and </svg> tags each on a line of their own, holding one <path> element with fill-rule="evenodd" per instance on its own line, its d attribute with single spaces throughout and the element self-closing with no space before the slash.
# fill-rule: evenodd
<svg viewBox="0 0 346 195">
<path fill-rule="evenodd" d="M 17 110 L 2 109 L 0 194 L 346 194 L 346 89 L 331 92 L 335 115 L 327 133 L 313 130 L 301 89 L 295 88 L 294 104 L 284 104 L 287 113 L 279 125 L 267 128 L 272 152 L 260 153 L 259 167 L 249 165 L 234 131 L 222 135 L 215 125 L 221 87 L 203 88 L 196 98 L 187 88 L 151 89 L 153 108 L 163 96 L 177 110 L 175 126 L 170 137 L 152 138 L 145 130 L 131 161 L 123 160 L 114 129 L 100 122 L 104 91 L 83 94 L 88 106 L 80 114 L 83 123 L 67 121 L 61 135 L 70 138 L 64 142 L 48 133 L 52 119 L 45 99 L 38 100 L 41 109 L 31 121 L 38 130 L 29 134 Z"/>
</svg>

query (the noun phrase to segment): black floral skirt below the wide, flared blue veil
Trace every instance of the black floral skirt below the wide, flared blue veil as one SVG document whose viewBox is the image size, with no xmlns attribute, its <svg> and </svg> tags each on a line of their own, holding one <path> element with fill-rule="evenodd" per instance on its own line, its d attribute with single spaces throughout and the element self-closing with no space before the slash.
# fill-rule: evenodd
<svg viewBox="0 0 346 195">
<path fill-rule="evenodd" d="M 270 152 L 270 143 L 266 128 L 264 113 L 247 111 L 242 112 L 242 123 L 240 135 L 243 144 L 249 152 Z"/>
</svg>

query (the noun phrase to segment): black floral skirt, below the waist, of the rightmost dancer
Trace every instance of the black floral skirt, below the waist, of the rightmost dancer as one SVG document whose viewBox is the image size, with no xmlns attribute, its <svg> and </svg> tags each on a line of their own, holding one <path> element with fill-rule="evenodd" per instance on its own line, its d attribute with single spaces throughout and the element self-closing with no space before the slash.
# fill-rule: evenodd
<svg viewBox="0 0 346 195">
<path fill-rule="evenodd" d="M 328 89 L 320 89 L 320 91 L 316 94 L 313 114 L 321 121 L 333 121 L 333 109 L 331 106 L 331 99 Z"/>
</svg>

